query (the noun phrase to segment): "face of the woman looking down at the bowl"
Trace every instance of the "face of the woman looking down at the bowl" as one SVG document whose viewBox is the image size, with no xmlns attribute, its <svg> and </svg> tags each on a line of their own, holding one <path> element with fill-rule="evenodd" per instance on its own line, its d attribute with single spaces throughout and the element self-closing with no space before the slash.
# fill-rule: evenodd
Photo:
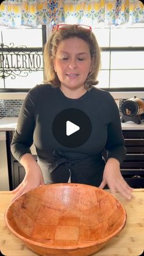
<svg viewBox="0 0 144 256">
<path fill-rule="evenodd" d="M 57 72 L 61 87 L 84 87 L 88 73 L 92 70 L 88 43 L 77 37 L 62 40 L 54 59 L 54 70 Z"/>
</svg>

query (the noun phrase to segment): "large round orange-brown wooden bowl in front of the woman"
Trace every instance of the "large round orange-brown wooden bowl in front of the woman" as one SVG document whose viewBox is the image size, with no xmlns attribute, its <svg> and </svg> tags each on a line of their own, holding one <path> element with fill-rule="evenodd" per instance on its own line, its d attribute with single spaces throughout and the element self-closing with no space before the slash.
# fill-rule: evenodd
<svg viewBox="0 0 144 256">
<path fill-rule="evenodd" d="M 7 209 L 5 222 L 37 254 L 85 256 L 121 232 L 126 211 L 107 191 L 59 183 L 18 197 Z"/>
</svg>

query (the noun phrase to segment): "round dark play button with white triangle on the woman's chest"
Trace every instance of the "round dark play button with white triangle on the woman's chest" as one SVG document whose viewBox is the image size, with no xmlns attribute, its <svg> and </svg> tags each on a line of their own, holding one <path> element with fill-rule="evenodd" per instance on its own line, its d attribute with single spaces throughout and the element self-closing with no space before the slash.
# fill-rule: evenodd
<svg viewBox="0 0 144 256">
<path fill-rule="evenodd" d="M 92 123 L 84 111 L 75 108 L 59 112 L 52 123 L 52 133 L 59 144 L 65 147 L 79 147 L 92 132 Z"/>
</svg>

